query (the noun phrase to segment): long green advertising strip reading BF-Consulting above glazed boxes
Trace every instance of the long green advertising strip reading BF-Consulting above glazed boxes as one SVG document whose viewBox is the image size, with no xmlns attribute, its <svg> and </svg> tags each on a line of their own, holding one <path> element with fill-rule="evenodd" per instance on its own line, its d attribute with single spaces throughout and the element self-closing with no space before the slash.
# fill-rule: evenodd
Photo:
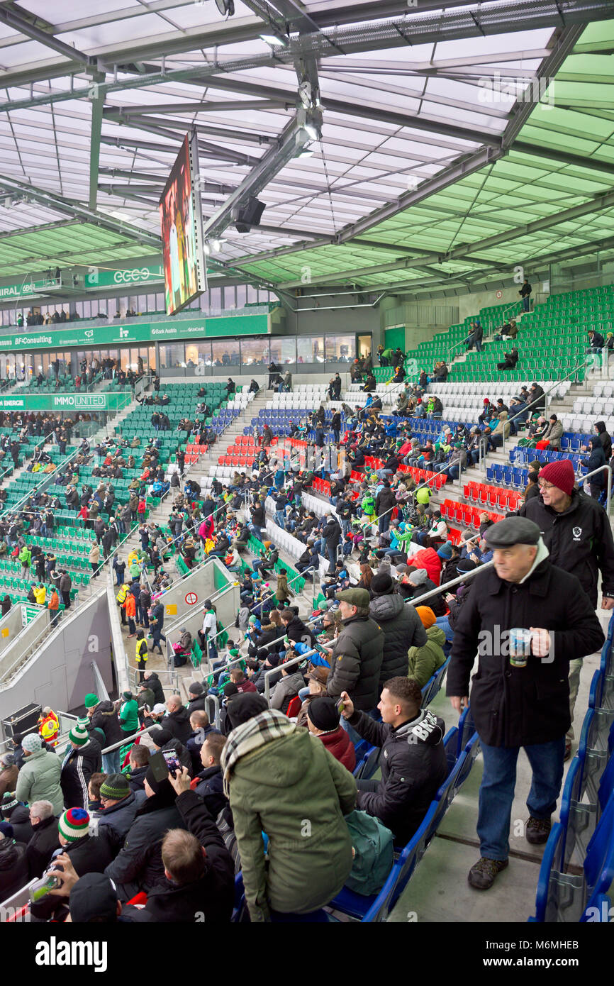
<svg viewBox="0 0 614 986">
<path fill-rule="evenodd" d="M 264 335 L 270 331 L 270 315 L 237 315 L 213 318 L 180 318 L 174 321 L 128 322 L 127 325 L 70 326 L 45 328 L 2 335 L 0 349 L 30 352 L 36 349 L 67 349 L 79 346 L 97 349 L 129 345 L 131 342 L 172 342 L 175 339 L 209 339 L 238 335 Z"/>
</svg>

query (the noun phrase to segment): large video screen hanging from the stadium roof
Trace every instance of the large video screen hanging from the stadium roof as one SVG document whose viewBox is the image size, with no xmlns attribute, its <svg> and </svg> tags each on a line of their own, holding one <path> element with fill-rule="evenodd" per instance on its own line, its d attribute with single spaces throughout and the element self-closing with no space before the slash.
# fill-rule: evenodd
<svg viewBox="0 0 614 986">
<path fill-rule="evenodd" d="M 197 171 L 196 135 L 186 134 L 160 199 L 168 315 L 189 305 L 207 287 Z"/>
</svg>

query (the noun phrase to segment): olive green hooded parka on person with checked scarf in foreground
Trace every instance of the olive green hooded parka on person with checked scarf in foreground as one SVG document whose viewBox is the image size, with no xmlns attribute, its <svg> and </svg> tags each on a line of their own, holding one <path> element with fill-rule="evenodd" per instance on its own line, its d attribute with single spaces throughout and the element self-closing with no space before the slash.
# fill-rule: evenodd
<svg viewBox="0 0 614 986">
<path fill-rule="evenodd" d="M 339 892 L 352 869 L 343 816 L 356 781 L 318 737 L 297 730 L 241 757 L 230 800 L 252 922 L 267 921 L 269 908 L 307 914 Z"/>
</svg>

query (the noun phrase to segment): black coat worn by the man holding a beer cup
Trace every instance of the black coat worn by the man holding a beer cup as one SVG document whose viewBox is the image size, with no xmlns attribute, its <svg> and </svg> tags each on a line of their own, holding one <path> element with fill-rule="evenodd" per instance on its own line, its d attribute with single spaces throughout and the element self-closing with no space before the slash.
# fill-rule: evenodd
<svg viewBox="0 0 614 986">
<path fill-rule="evenodd" d="M 501 635 L 511 627 L 549 630 L 554 647 L 512 668 Z M 563 628 L 563 629 L 562 629 Z M 541 562 L 521 584 L 494 569 L 473 579 L 454 628 L 446 693 L 469 694 L 478 734 L 490 746 L 527 746 L 560 740 L 570 727 L 569 664 L 600 650 L 603 632 L 575 575 Z"/>
</svg>

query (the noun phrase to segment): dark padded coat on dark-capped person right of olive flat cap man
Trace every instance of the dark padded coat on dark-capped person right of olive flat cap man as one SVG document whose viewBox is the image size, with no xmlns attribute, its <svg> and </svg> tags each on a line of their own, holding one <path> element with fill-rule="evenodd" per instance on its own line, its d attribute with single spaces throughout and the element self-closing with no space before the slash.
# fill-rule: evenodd
<svg viewBox="0 0 614 986">
<path fill-rule="evenodd" d="M 383 659 L 379 670 L 379 691 L 388 678 L 407 677 L 407 652 L 410 647 L 424 647 L 427 631 L 414 607 L 401 596 L 376 596 L 369 614 L 383 630 Z"/>
</svg>

